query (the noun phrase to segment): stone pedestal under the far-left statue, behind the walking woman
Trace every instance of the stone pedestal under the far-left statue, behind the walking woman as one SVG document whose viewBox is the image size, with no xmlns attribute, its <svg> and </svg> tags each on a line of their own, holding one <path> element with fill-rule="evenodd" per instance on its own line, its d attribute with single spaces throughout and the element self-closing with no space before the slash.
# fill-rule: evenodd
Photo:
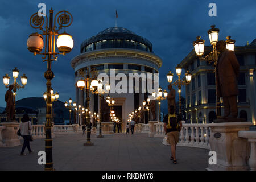
<svg viewBox="0 0 256 182">
<path fill-rule="evenodd" d="M 14 147 L 19 146 L 20 140 L 17 135 L 17 131 L 19 130 L 19 123 L 1 123 L 2 126 L 5 126 L 5 129 L 2 130 L 2 143 L 6 147 Z"/>
</svg>

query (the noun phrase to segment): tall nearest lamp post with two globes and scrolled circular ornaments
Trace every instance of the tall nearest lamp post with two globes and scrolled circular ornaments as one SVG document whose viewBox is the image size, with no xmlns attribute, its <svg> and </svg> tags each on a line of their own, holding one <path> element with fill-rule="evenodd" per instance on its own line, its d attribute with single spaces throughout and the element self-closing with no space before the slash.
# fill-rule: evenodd
<svg viewBox="0 0 256 182">
<path fill-rule="evenodd" d="M 48 24 L 49 21 L 49 24 Z M 52 162 L 52 135 L 51 135 L 51 80 L 54 78 L 54 73 L 51 70 L 52 61 L 57 60 L 57 55 L 70 52 L 73 48 L 72 36 L 67 34 L 65 31 L 62 34 L 59 34 L 61 28 L 68 27 L 72 24 L 73 18 L 71 13 L 68 11 L 59 11 L 55 15 L 53 22 L 53 9 L 49 10 L 49 18 L 47 15 L 39 16 L 38 13 L 34 13 L 30 18 L 30 26 L 35 29 L 43 31 L 43 35 L 46 36 L 44 52 L 40 53 L 44 47 L 43 35 L 33 33 L 29 36 L 27 40 L 28 51 L 36 54 L 43 55 L 43 61 L 47 61 L 47 71 L 44 72 L 44 78 L 46 78 L 47 83 L 47 99 L 46 99 L 46 164 L 44 165 L 45 170 L 53 170 Z M 44 23 L 46 22 L 45 28 L 43 28 Z M 57 27 L 59 24 L 59 27 Z M 55 36 L 59 35 L 57 42 L 55 41 Z M 55 52 L 55 42 L 59 52 Z"/>
</svg>

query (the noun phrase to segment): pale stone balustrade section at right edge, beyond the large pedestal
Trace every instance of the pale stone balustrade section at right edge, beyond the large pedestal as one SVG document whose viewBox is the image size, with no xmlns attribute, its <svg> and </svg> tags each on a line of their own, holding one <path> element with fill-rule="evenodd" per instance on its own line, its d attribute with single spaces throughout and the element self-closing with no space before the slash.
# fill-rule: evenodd
<svg viewBox="0 0 256 182">
<path fill-rule="evenodd" d="M 247 138 L 250 142 L 250 158 L 247 163 L 251 171 L 256 171 L 256 131 L 238 131 L 238 137 Z"/>
</svg>

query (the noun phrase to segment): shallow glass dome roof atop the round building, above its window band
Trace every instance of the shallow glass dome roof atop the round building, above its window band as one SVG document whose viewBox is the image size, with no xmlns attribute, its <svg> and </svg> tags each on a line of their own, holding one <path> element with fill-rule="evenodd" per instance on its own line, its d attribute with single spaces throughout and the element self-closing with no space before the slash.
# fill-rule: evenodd
<svg viewBox="0 0 256 182">
<path fill-rule="evenodd" d="M 142 36 L 136 35 L 134 32 L 123 27 L 106 28 L 105 30 L 99 32 L 96 36 L 92 36 L 91 38 L 86 39 L 84 42 L 81 43 L 80 52 L 82 53 L 84 48 L 89 44 L 96 43 L 102 40 L 113 39 L 133 40 L 135 42 L 146 45 L 150 49 L 150 52 L 152 52 L 152 44 L 149 40 L 143 38 Z"/>
</svg>

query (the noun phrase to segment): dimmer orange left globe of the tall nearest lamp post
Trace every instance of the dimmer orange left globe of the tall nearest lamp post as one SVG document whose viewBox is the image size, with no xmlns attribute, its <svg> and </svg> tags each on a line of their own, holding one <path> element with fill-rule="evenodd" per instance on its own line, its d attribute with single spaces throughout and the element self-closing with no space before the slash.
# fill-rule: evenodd
<svg viewBox="0 0 256 182">
<path fill-rule="evenodd" d="M 42 51 L 44 47 L 43 36 L 38 33 L 32 33 L 27 39 L 27 49 L 33 52 L 34 55 Z"/>
</svg>

